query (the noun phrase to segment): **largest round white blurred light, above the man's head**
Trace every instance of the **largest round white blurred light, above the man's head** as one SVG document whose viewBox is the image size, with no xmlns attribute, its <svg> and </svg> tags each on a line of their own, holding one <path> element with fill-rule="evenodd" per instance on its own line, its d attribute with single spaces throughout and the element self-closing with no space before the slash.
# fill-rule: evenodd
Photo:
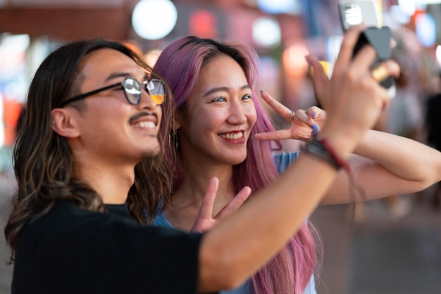
<svg viewBox="0 0 441 294">
<path fill-rule="evenodd" d="M 175 27 L 178 11 L 169 0 L 141 0 L 132 13 L 133 30 L 142 38 L 166 37 Z"/>
</svg>

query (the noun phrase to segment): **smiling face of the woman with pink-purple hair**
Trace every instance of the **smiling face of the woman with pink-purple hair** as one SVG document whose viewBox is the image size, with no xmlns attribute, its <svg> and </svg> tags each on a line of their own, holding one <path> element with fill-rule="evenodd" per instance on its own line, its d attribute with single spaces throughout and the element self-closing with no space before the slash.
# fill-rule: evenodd
<svg viewBox="0 0 441 294">
<path fill-rule="evenodd" d="M 178 120 L 183 158 L 228 165 L 244 161 L 256 108 L 240 65 L 226 55 L 206 63 Z"/>
</svg>

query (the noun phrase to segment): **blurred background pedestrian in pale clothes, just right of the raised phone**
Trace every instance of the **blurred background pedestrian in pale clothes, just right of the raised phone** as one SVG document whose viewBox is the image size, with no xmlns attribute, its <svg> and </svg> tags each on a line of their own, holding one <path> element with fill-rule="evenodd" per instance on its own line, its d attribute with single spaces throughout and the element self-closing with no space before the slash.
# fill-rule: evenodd
<svg viewBox="0 0 441 294">
<path fill-rule="evenodd" d="M 427 61 L 421 61 L 426 60 L 426 56 L 415 32 L 407 28 L 400 27 L 395 30 L 394 41 L 391 58 L 397 61 L 401 68 L 399 76 L 394 78 L 397 93 L 373 129 L 423 142 L 423 98 L 429 83 L 426 77 Z M 416 199 L 409 195 L 392 195 L 385 198 L 387 216 L 399 219 L 407 215 L 411 212 L 414 201 L 420 200 L 421 192 L 416 193 Z M 357 221 L 368 219 L 369 209 L 366 208 L 368 207 L 362 203 L 356 206 Z"/>
</svg>

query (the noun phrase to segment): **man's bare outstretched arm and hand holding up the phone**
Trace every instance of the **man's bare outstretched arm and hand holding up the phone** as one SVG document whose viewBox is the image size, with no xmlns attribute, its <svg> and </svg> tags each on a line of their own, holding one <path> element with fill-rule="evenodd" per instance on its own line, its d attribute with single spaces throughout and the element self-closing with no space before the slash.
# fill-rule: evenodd
<svg viewBox="0 0 441 294">
<path fill-rule="evenodd" d="M 373 127 L 389 99 L 369 72 L 374 49 L 366 46 L 352 60 L 360 30 L 356 27 L 345 36 L 321 101 L 328 110 L 323 139 L 344 159 Z M 392 61 L 384 66 L 391 75 L 399 72 Z M 304 153 L 278 181 L 206 233 L 199 253 L 199 291 L 237 286 L 268 262 L 303 224 L 336 174 L 327 162 Z"/>
</svg>

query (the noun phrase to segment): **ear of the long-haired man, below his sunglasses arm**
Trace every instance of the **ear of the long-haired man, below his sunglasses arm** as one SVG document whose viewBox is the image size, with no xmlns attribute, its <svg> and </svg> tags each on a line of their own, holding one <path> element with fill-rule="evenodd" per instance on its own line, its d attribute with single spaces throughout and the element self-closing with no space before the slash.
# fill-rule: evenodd
<svg viewBox="0 0 441 294">
<path fill-rule="evenodd" d="M 58 135 L 66 138 L 77 138 L 80 136 L 80 129 L 77 126 L 77 115 L 73 109 L 55 108 L 51 112 L 52 129 Z"/>
</svg>

